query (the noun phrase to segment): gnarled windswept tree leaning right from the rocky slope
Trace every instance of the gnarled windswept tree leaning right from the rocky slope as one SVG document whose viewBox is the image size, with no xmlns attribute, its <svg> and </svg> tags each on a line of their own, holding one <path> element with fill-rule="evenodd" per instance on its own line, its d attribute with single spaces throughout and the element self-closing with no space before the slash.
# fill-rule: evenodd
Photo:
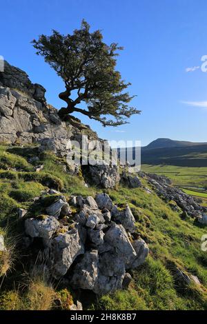
<svg viewBox="0 0 207 324">
<path fill-rule="evenodd" d="M 134 97 L 124 92 L 130 83 L 121 79 L 115 70 L 117 43 L 106 45 L 100 30 L 90 32 L 90 26 L 82 21 L 81 29 L 63 35 L 52 30 L 51 36 L 41 35 L 33 40 L 37 54 L 44 57 L 63 79 L 66 90 L 59 98 L 67 107 L 59 110 L 62 120 L 72 112 L 81 112 L 103 126 L 127 123 L 126 119 L 139 110 L 128 103 Z"/>
</svg>

